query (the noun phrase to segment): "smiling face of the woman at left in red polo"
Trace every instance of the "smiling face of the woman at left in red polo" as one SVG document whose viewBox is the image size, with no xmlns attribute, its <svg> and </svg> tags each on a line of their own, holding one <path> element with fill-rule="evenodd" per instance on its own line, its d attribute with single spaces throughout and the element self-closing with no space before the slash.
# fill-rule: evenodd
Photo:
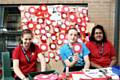
<svg viewBox="0 0 120 80">
<path fill-rule="evenodd" d="M 30 44 L 32 42 L 32 35 L 31 34 L 23 34 L 21 37 L 21 40 L 23 42 L 23 47 L 26 49 L 29 49 Z"/>
</svg>

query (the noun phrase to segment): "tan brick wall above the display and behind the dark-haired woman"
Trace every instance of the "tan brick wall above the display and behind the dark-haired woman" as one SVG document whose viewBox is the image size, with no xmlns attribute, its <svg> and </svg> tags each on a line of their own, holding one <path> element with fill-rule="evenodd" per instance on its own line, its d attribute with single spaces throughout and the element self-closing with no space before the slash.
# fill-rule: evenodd
<svg viewBox="0 0 120 80">
<path fill-rule="evenodd" d="M 112 43 L 114 42 L 115 0 L 0 0 L 0 3 L 1 4 L 88 3 L 88 15 L 90 16 L 91 22 L 103 25 L 108 35 L 108 39 L 112 41 Z"/>
</svg>

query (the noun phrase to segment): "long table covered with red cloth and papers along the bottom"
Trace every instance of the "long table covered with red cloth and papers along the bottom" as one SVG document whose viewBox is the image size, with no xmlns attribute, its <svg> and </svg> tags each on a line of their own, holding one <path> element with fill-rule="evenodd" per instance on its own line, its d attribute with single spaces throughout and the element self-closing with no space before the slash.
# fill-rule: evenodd
<svg viewBox="0 0 120 80">
<path fill-rule="evenodd" d="M 116 71 L 119 71 L 120 69 L 116 69 Z M 45 71 L 45 72 L 35 72 L 29 75 L 30 80 L 35 79 L 35 76 L 42 74 L 42 76 L 38 76 L 35 80 L 51 80 L 51 74 L 57 78 L 54 80 L 120 80 L 119 74 L 113 73 L 113 68 L 100 68 L 100 69 L 87 69 L 87 70 L 81 70 L 81 71 L 74 71 L 74 72 L 68 72 L 68 73 L 56 73 L 55 70 L 52 71 Z M 119 72 L 118 72 L 119 73 Z M 56 75 L 58 74 L 58 75 Z M 43 79 L 44 76 L 44 79 Z M 52 76 L 52 77 L 53 77 Z M 53 79 L 52 79 L 53 80 Z"/>
</svg>

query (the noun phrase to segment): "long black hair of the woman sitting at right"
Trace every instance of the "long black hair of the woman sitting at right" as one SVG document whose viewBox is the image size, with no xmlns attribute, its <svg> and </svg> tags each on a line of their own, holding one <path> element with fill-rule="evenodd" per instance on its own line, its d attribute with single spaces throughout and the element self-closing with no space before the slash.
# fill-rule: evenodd
<svg viewBox="0 0 120 80">
<path fill-rule="evenodd" d="M 96 40 L 95 40 L 95 38 L 94 38 L 94 35 L 95 35 L 95 30 L 96 29 L 100 29 L 101 31 L 102 31 L 102 33 L 103 33 L 103 39 L 102 39 L 102 41 L 101 42 L 106 42 L 107 41 L 107 37 L 106 37 L 106 34 L 105 34 L 105 31 L 104 31 L 104 28 L 103 28 L 103 26 L 101 26 L 101 25 L 96 25 L 93 29 L 92 29 L 92 32 L 91 32 L 91 35 L 90 35 L 90 41 L 95 41 L 96 42 Z"/>
</svg>

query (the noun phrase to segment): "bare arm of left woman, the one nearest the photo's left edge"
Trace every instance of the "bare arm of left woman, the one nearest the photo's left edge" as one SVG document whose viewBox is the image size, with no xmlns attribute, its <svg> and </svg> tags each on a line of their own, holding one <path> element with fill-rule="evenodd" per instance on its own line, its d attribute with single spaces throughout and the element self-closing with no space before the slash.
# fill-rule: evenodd
<svg viewBox="0 0 120 80">
<path fill-rule="evenodd" d="M 13 70 L 15 74 L 21 79 L 21 80 L 28 80 L 28 78 L 25 77 L 25 75 L 21 72 L 19 68 L 19 60 L 13 59 Z"/>
</svg>

